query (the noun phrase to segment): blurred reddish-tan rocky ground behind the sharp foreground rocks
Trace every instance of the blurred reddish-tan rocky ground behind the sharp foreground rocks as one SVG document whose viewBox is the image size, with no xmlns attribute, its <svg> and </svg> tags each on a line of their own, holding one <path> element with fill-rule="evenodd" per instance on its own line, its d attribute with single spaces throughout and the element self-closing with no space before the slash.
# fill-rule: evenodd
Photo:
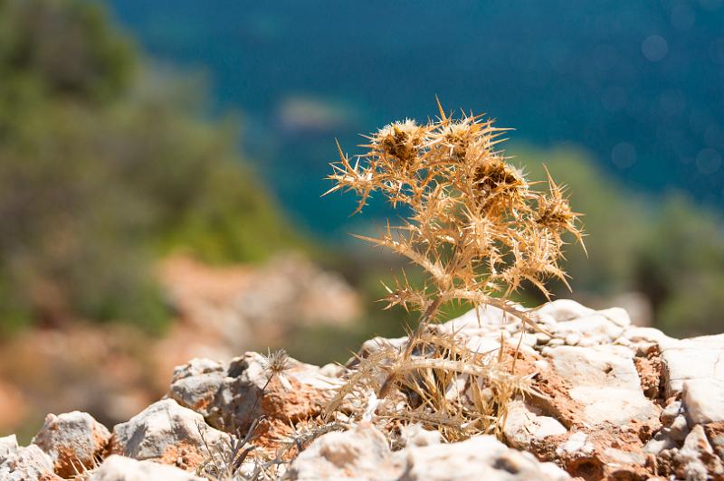
<svg viewBox="0 0 724 481">
<path fill-rule="evenodd" d="M 107 425 L 128 420 L 167 391 L 177 364 L 229 361 L 286 345 L 300 327 L 352 325 L 362 315 L 344 279 L 293 254 L 233 266 L 176 255 L 158 276 L 176 314 L 161 337 L 79 322 L 26 329 L 0 344 L 0 436 L 22 430 L 30 439 L 49 410 L 88 411 Z"/>
</svg>

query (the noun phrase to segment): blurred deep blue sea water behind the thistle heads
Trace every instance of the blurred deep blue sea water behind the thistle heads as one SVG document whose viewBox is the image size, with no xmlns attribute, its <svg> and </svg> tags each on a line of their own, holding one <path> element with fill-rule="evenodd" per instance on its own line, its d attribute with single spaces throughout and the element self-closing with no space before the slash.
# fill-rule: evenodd
<svg viewBox="0 0 724 481">
<path fill-rule="evenodd" d="M 724 206 L 724 2 L 112 0 L 158 62 L 205 71 L 216 111 L 294 218 L 319 233 L 335 137 L 447 108 L 511 137 L 583 146 L 624 184 Z M 374 211 L 374 208 L 373 208 Z M 374 213 L 374 212 L 373 212 Z"/>
</svg>

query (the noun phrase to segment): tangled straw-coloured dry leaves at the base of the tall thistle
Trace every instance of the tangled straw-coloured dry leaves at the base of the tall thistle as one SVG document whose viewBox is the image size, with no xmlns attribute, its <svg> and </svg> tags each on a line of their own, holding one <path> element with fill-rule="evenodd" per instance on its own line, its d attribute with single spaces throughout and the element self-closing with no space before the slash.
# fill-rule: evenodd
<svg viewBox="0 0 724 481">
<path fill-rule="evenodd" d="M 390 434 L 399 424 L 419 423 L 440 431 L 448 441 L 476 434 L 500 437 L 511 399 L 543 396 L 534 385 L 533 374 L 512 369 L 516 359 L 513 346 L 501 348 L 497 355 L 477 353 L 454 333 L 434 331 L 419 335 L 414 354 L 408 358 L 389 344 L 357 357 L 326 416 L 342 413 L 365 419 L 374 413 L 369 420 Z M 376 400 L 370 393 L 393 377 L 398 380 L 395 399 Z"/>
</svg>

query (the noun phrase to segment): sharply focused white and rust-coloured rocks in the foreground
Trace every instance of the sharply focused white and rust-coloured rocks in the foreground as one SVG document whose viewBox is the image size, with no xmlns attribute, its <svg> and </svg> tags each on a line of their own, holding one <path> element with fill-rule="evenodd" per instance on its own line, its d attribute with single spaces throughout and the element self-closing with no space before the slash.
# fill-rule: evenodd
<svg viewBox="0 0 724 481">
<path fill-rule="evenodd" d="M 547 334 L 492 307 L 437 327 L 483 364 L 515 347 L 511 369 L 536 394 L 510 401 L 497 437 L 391 429 L 374 398 L 322 419 L 358 359 L 270 378 L 247 353 L 178 366 L 164 399 L 112 429 L 73 411 L 49 414 L 27 447 L 0 438 L 0 479 L 724 479 L 724 335 L 673 339 L 568 300 L 536 316 Z M 371 339 L 359 357 L 404 343 Z M 445 396 L 469 395 L 466 375 Z"/>
</svg>

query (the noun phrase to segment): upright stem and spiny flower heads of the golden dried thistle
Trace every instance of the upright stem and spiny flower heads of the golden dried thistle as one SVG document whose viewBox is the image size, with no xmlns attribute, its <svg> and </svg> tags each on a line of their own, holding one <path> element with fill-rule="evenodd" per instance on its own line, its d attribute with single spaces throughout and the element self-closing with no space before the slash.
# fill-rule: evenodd
<svg viewBox="0 0 724 481">
<path fill-rule="evenodd" d="M 564 234 L 581 242 L 583 233 L 565 196 L 565 188 L 548 174 L 547 182 L 529 182 L 498 149 L 508 129 L 493 127 L 481 116 L 452 118 L 438 101 L 440 117 L 424 125 L 395 122 L 367 137 L 366 152 L 352 160 L 338 145 L 339 162 L 329 175 L 327 193 L 357 193 L 360 212 L 372 193 L 382 193 L 409 212 L 401 225 L 378 238 L 357 236 L 410 259 L 426 274 L 413 286 L 404 273 L 387 288 L 386 308 L 414 308 L 422 315 L 402 355 L 406 362 L 420 335 L 448 302 L 473 307 L 491 305 L 538 328 L 526 311 L 510 302 L 525 283 L 546 297 L 549 278 L 567 285 L 560 267 Z M 538 190 L 538 184 L 546 184 Z M 380 388 L 385 397 L 398 374 Z"/>
</svg>

